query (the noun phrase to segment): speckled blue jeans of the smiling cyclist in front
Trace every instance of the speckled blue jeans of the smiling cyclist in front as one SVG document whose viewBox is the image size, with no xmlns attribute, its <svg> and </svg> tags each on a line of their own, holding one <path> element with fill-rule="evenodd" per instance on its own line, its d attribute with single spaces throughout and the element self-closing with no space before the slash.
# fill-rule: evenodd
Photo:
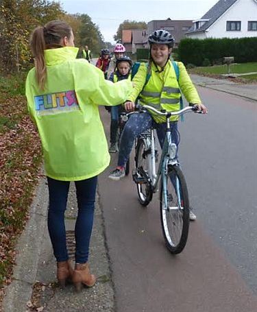
<svg viewBox="0 0 257 312">
<path fill-rule="evenodd" d="M 119 158 L 118 166 L 125 167 L 130 153 L 132 151 L 133 143 L 136 137 L 138 137 L 142 132 L 151 128 L 154 125 L 160 142 L 160 147 L 163 147 L 165 134 L 166 134 L 166 123 L 156 123 L 152 119 L 149 112 L 142 112 L 139 114 L 133 114 L 130 119 L 125 123 L 125 127 L 121 134 L 121 143 L 119 146 Z M 178 122 L 171 122 L 171 137 L 172 141 L 178 145 Z"/>
</svg>

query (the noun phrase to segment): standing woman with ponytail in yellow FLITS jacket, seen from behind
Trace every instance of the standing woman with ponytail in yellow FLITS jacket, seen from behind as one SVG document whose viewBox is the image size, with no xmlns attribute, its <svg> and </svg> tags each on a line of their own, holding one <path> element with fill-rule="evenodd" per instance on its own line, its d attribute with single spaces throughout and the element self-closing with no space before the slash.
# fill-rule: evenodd
<svg viewBox="0 0 257 312">
<path fill-rule="evenodd" d="M 72 278 L 77 289 L 93 286 L 88 249 L 93 227 L 97 176 L 108 167 L 108 144 L 98 104 L 112 106 L 127 99 L 130 80 L 113 84 L 100 69 L 76 59 L 72 29 L 63 21 L 37 27 L 31 38 L 35 67 L 29 71 L 26 96 L 36 123 L 49 188 L 48 229 L 57 261 L 57 278 Z M 64 211 L 70 181 L 75 181 L 78 215 L 75 224 L 75 270 L 66 248 Z"/>
</svg>

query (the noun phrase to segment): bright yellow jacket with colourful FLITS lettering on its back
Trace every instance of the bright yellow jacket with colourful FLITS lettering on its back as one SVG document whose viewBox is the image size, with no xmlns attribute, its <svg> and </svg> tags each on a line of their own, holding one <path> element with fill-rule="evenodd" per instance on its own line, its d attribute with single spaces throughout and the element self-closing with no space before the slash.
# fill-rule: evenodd
<svg viewBox="0 0 257 312">
<path fill-rule="evenodd" d="M 97 67 L 76 59 L 77 50 L 45 50 L 45 90 L 38 88 L 35 69 L 26 81 L 27 106 L 42 141 L 45 171 L 56 180 L 84 180 L 108 167 L 98 105 L 121 104 L 132 91 L 130 80 L 114 84 Z"/>
</svg>

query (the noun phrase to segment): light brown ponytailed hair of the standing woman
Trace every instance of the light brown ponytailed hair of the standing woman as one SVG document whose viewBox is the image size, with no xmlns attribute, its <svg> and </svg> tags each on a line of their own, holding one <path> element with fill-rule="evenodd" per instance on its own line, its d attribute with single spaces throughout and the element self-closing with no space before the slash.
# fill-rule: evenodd
<svg viewBox="0 0 257 312">
<path fill-rule="evenodd" d="M 47 80 L 47 67 L 45 65 L 44 50 L 60 45 L 61 38 L 65 36 L 71 38 L 71 26 L 64 21 L 51 21 L 45 26 L 39 26 L 34 29 L 30 39 L 30 47 L 34 56 L 36 67 L 36 81 L 40 89 L 44 90 Z"/>
</svg>

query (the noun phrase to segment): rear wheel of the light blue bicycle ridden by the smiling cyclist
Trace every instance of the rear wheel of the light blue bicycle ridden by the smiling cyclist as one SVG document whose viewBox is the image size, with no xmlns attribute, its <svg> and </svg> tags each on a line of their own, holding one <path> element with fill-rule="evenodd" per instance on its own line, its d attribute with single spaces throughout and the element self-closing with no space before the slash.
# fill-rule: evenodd
<svg viewBox="0 0 257 312">
<path fill-rule="evenodd" d="M 138 191 L 138 200 L 141 205 L 147 206 L 153 197 L 153 191 L 151 188 L 151 182 L 149 179 L 149 162 L 151 151 L 147 149 L 143 139 L 138 139 L 136 145 L 136 174 L 134 175 L 134 181 L 136 182 L 136 188 Z"/>
</svg>

